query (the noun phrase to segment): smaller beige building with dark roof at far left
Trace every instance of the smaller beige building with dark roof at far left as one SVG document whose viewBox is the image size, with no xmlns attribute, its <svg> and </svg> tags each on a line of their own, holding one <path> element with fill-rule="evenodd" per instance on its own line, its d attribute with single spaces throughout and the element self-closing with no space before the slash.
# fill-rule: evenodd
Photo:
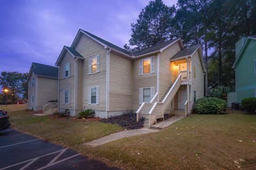
<svg viewBox="0 0 256 170">
<path fill-rule="evenodd" d="M 53 99 L 58 99 L 58 68 L 32 63 L 28 74 L 28 108 L 43 111 L 43 106 Z"/>
</svg>

